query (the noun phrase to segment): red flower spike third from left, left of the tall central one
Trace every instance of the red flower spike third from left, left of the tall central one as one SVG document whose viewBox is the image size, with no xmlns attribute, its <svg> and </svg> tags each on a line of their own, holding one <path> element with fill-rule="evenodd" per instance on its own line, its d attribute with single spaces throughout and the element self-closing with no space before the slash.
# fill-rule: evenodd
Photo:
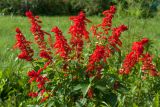
<svg viewBox="0 0 160 107">
<path fill-rule="evenodd" d="M 64 38 L 62 31 L 58 27 L 54 27 L 52 32 L 55 33 L 56 41 L 53 45 L 57 49 L 56 54 L 59 54 L 62 58 L 66 59 L 69 52 L 71 51 L 70 46 L 67 43 L 67 40 Z"/>
</svg>

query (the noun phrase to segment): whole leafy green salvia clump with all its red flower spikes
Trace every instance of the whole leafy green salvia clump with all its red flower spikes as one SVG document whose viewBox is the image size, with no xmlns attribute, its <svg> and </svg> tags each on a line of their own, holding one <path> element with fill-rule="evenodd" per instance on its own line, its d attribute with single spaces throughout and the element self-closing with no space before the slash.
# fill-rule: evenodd
<svg viewBox="0 0 160 107">
<path fill-rule="evenodd" d="M 120 36 L 128 27 L 113 27 L 115 12 L 116 8 L 111 6 L 102 13 L 102 23 L 91 27 L 92 38 L 86 29 L 91 21 L 82 11 L 70 17 L 70 43 L 57 26 L 51 30 L 55 34 L 53 43 L 51 34 L 42 30 L 40 18 L 26 12 L 39 51 L 32 49 L 19 28 L 14 47 L 21 51 L 18 58 L 32 65 L 27 73 L 31 97 L 28 103 L 57 107 L 158 107 L 155 99 L 159 99 L 160 74 L 148 51 L 149 40 L 134 42 L 125 55 Z"/>
</svg>

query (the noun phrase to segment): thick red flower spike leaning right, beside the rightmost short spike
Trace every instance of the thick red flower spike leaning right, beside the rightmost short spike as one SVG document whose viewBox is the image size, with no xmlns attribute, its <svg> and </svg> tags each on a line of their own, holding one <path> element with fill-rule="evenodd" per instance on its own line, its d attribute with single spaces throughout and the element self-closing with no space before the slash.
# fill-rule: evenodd
<svg viewBox="0 0 160 107">
<path fill-rule="evenodd" d="M 120 74 L 129 74 L 132 67 L 139 61 L 139 58 L 143 54 L 144 45 L 148 43 L 148 39 L 144 38 L 139 42 L 134 42 L 132 45 L 132 51 L 126 56 L 123 61 L 122 68 L 119 70 Z"/>
</svg>

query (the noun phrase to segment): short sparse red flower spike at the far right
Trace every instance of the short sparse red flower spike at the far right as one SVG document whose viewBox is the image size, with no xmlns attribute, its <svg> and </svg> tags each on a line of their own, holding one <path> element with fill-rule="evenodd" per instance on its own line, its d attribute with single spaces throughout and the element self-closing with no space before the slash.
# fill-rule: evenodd
<svg viewBox="0 0 160 107">
<path fill-rule="evenodd" d="M 143 71 L 147 70 L 151 76 L 158 76 L 158 72 L 156 71 L 155 65 L 152 64 L 152 57 L 149 53 L 143 55 L 142 64 Z"/>
</svg>

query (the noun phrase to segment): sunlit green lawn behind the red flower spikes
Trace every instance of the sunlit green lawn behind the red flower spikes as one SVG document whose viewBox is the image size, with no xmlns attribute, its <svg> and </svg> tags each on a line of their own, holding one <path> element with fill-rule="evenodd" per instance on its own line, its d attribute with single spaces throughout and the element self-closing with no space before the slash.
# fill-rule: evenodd
<svg viewBox="0 0 160 107">
<path fill-rule="evenodd" d="M 66 38 L 69 39 L 70 35 L 67 33 L 68 28 L 71 25 L 71 21 L 67 16 L 54 16 L 54 17 L 41 17 L 42 29 L 50 32 L 51 28 L 58 26 L 62 29 Z M 92 21 L 92 24 L 98 24 L 101 22 L 102 17 L 92 16 L 88 17 Z M 134 17 L 116 17 L 113 20 L 114 26 L 125 24 L 129 27 L 129 30 L 122 35 L 122 39 L 127 42 L 124 43 L 124 49 L 130 49 L 130 44 L 133 41 L 140 40 L 142 37 L 150 38 L 154 47 L 160 52 L 160 17 L 148 18 L 148 19 L 137 19 Z M 17 66 L 14 61 L 16 60 L 17 51 L 12 50 L 12 46 L 15 44 L 15 28 L 19 27 L 27 39 L 32 40 L 33 37 L 30 29 L 30 24 L 26 17 L 20 16 L 0 16 L 0 68 L 13 68 Z M 88 29 L 89 29 L 88 27 Z M 23 61 L 22 61 L 23 63 Z M 18 68 L 19 69 L 19 68 Z"/>
</svg>

